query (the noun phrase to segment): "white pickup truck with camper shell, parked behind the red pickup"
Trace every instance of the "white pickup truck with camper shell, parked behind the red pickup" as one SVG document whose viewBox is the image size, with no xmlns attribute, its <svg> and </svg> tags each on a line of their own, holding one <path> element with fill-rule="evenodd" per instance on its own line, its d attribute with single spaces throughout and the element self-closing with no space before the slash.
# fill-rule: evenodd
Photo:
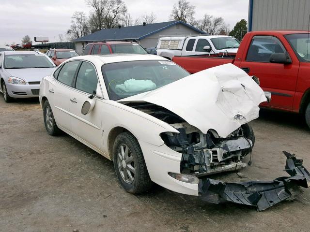
<svg viewBox="0 0 310 232">
<path fill-rule="evenodd" d="M 161 37 L 157 55 L 172 60 L 174 56 L 236 54 L 240 41 L 227 35 Z"/>
</svg>

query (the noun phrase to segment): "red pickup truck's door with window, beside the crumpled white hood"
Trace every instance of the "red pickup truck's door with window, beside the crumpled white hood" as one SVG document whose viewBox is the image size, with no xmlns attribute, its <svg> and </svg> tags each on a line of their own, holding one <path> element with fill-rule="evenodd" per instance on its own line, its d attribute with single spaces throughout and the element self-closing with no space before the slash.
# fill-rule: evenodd
<svg viewBox="0 0 310 232">
<path fill-rule="evenodd" d="M 273 53 L 288 54 L 284 45 L 274 36 L 254 36 L 240 68 L 260 79 L 260 86 L 271 92 L 268 107 L 292 110 L 299 64 L 271 63 Z"/>
</svg>

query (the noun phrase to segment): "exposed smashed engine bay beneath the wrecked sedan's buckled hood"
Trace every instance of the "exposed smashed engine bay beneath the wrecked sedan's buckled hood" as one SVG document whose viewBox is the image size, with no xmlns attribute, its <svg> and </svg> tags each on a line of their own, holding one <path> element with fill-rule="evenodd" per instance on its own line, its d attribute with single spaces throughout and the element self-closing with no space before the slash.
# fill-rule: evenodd
<svg viewBox="0 0 310 232">
<path fill-rule="evenodd" d="M 130 102 L 126 105 L 167 122 L 179 131 L 165 132 L 160 136 L 172 150 L 182 153 L 181 173 L 214 174 L 247 166 L 242 160 L 251 152 L 255 141 L 248 124 L 221 138 L 214 130 L 202 133 L 164 107 L 148 102 Z"/>
</svg>

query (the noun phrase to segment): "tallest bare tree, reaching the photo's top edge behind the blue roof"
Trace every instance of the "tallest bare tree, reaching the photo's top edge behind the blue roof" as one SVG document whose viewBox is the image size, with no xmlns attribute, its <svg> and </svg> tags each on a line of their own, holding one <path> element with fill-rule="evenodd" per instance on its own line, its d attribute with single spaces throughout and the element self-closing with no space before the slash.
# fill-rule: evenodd
<svg viewBox="0 0 310 232">
<path fill-rule="evenodd" d="M 92 30 L 114 28 L 124 23 L 127 7 L 123 0 L 86 0 L 91 11 L 89 24 Z"/>
</svg>

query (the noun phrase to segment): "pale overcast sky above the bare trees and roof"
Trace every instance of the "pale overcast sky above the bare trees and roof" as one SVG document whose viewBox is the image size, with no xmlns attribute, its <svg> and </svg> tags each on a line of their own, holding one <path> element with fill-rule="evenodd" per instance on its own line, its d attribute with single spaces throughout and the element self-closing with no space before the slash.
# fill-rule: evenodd
<svg viewBox="0 0 310 232">
<path fill-rule="evenodd" d="M 204 14 L 223 17 L 232 29 L 241 19 L 248 20 L 248 0 L 187 0 L 195 6 L 195 17 Z M 124 0 L 133 18 L 153 12 L 156 22 L 169 21 L 173 4 L 177 0 Z M 89 14 L 85 0 L 0 0 L 0 45 L 21 43 L 25 35 L 48 37 L 59 42 L 59 34 L 70 28 L 75 11 Z"/>
</svg>

